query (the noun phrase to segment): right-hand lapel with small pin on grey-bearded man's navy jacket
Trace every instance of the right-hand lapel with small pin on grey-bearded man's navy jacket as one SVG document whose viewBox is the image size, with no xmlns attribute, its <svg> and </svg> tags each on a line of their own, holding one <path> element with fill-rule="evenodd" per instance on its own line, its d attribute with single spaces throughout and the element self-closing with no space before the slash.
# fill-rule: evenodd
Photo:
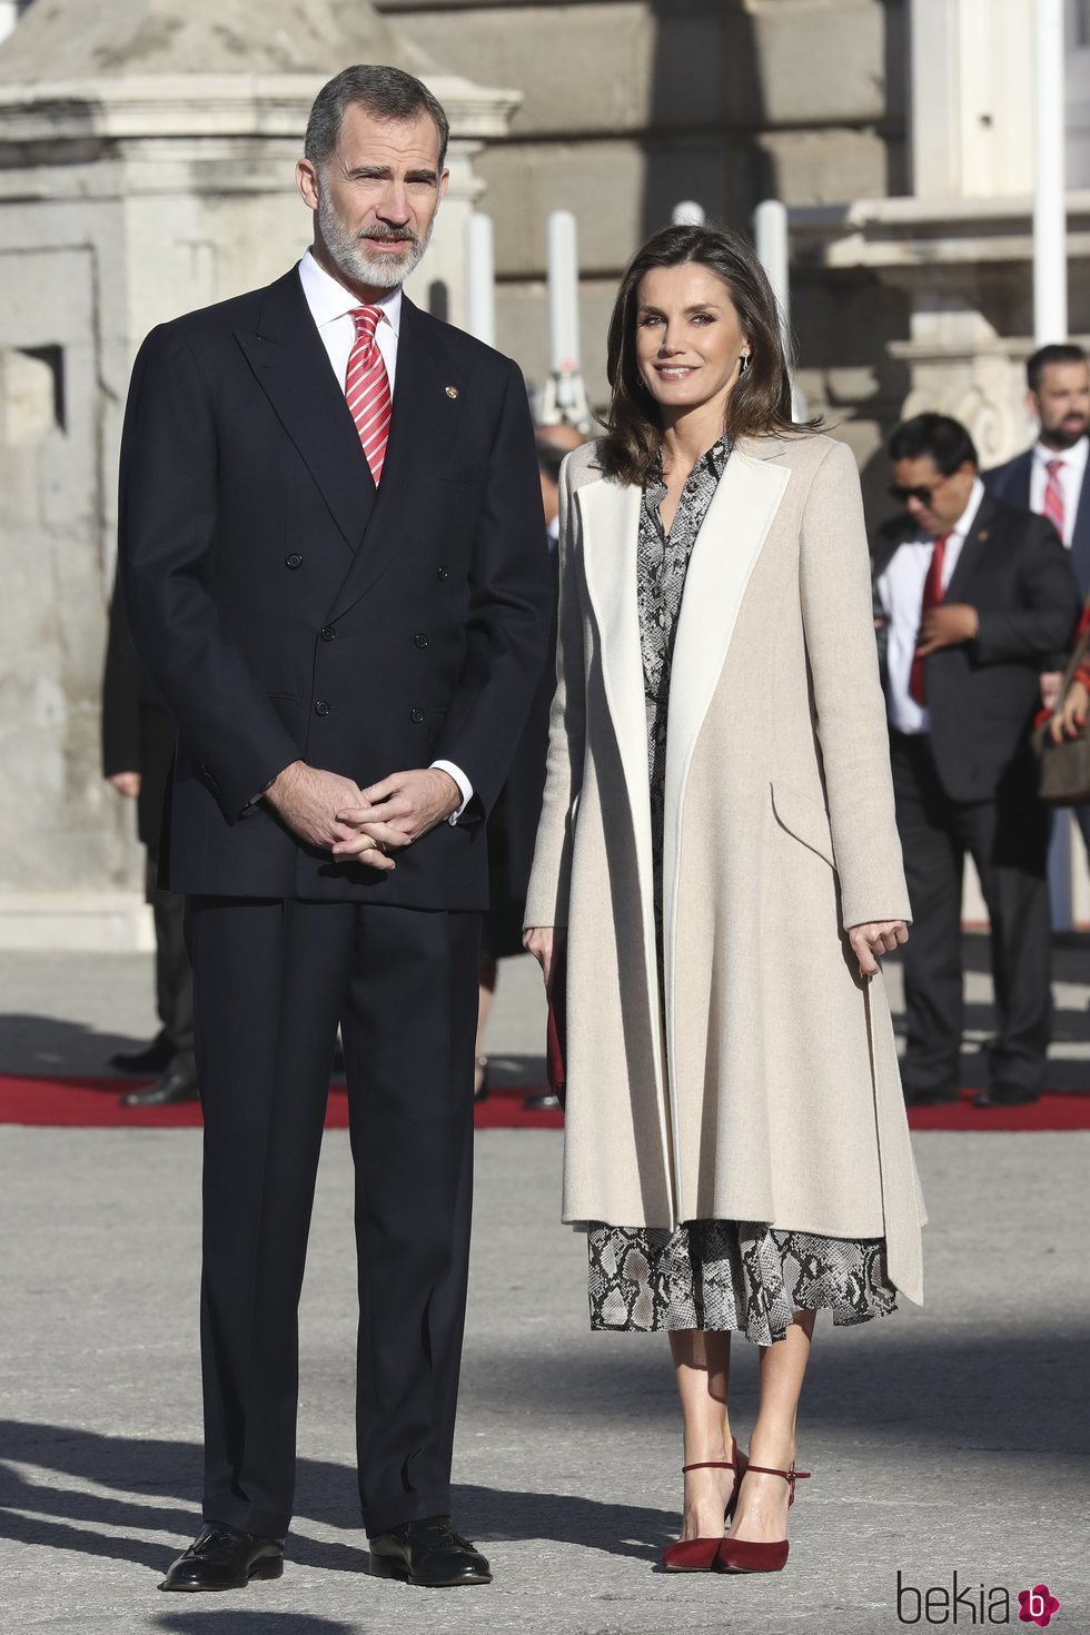
<svg viewBox="0 0 1090 1635">
<path fill-rule="evenodd" d="M 413 486 L 440 468 L 458 433 L 466 381 L 449 360 L 440 335 L 441 325 L 435 319 L 420 312 L 412 301 L 402 299 L 394 415 L 382 481 L 363 544 L 327 615 L 330 625 L 366 595 L 397 551 L 405 548 L 405 518 Z M 448 387 L 454 387 L 454 396 Z"/>
</svg>

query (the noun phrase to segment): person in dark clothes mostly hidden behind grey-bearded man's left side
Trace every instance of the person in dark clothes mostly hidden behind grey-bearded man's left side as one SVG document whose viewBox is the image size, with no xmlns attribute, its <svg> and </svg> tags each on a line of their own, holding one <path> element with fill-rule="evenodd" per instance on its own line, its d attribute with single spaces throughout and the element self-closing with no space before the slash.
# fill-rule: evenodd
<svg viewBox="0 0 1090 1635">
<path fill-rule="evenodd" d="M 193 976 L 185 947 L 185 898 L 159 885 L 159 835 L 175 752 L 173 721 L 136 657 L 114 592 L 103 672 L 103 777 L 136 801 L 136 829 L 147 850 L 147 901 L 155 916 L 155 1007 L 159 1035 L 142 1050 L 118 1051 L 123 1073 L 159 1074 L 144 1091 L 129 1091 L 123 1107 L 167 1107 L 196 1099 L 193 1059 Z"/>
</svg>

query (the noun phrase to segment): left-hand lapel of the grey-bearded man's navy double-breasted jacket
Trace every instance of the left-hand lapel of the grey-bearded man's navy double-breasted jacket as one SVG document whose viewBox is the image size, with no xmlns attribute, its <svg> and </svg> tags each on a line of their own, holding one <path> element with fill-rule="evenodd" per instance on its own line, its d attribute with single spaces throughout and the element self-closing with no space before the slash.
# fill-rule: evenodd
<svg viewBox="0 0 1090 1635">
<path fill-rule="evenodd" d="M 374 482 L 296 268 L 270 284 L 257 334 L 237 330 L 235 338 L 355 551 Z"/>
</svg>

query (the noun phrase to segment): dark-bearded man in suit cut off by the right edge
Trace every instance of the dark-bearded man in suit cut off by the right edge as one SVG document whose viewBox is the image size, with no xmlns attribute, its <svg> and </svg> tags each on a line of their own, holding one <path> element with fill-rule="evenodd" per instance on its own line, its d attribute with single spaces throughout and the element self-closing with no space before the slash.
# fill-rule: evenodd
<svg viewBox="0 0 1090 1635">
<path fill-rule="evenodd" d="M 984 487 L 1000 500 L 1048 517 L 1070 551 L 1083 598 L 1090 595 L 1090 365 L 1082 347 L 1041 347 L 1026 363 L 1026 402 L 1039 432 L 1033 448 L 984 473 Z M 1062 669 L 1041 675 L 1041 701 L 1052 710 Z M 1090 806 L 1074 808 L 1090 852 Z"/>
</svg>

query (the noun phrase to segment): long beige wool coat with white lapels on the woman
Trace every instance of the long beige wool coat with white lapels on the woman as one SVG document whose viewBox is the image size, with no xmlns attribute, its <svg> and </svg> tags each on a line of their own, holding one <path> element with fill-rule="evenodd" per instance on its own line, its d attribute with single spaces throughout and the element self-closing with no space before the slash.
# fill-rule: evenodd
<svg viewBox="0 0 1090 1635">
<path fill-rule="evenodd" d="M 561 625 L 528 925 L 567 927 L 564 1220 L 886 1238 L 922 1300 L 922 1197 L 882 976 L 909 919 L 860 479 L 744 440 L 690 559 L 665 770 L 663 992 L 636 605 L 641 490 L 561 486 Z M 660 1019 L 663 1019 L 660 1022 Z"/>
</svg>

